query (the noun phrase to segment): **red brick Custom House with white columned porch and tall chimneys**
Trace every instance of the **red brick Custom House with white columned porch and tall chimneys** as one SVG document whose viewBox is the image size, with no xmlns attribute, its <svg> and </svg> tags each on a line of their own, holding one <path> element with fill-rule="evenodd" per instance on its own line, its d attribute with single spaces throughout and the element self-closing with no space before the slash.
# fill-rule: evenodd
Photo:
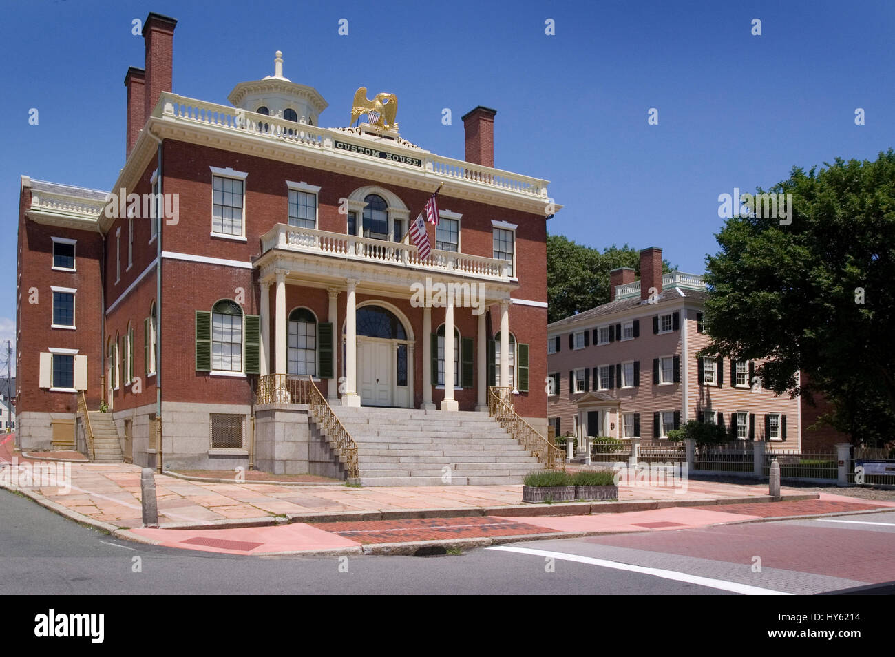
<svg viewBox="0 0 895 657">
<path fill-rule="evenodd" d="M 84 391 L 135 463 L 161 451 L 166 467 L 247 465 L 275 374 L 311 375 L 330 405 L 446 411 L 487 410 L 488 386 L 504 383 L 545 431 L 546 354 L 529 345 L 546 340 L 556 206 L 547 181 L 493 167 L 496 112 L 464 116 L 464 161 L 375 114 L 320 127 L 327 101 L 289 81 L 278 52 L 232 106 L 175 95 L 175 26 L 144 23 L 110 192 L 22 177 L 21 447 L 69 435 Z M 405 236 L 439 185 L 423 259 Z M 262 451 L 264 467 L 307 471 L 307 454 Z"/>
</svg>

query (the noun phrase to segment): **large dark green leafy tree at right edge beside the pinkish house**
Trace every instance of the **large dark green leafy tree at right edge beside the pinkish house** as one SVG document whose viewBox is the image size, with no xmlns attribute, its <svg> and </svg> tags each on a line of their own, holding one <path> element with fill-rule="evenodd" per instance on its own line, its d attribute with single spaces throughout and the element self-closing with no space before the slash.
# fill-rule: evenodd
<svg viewBox="0 0 895 657">
<path fill-rule="evenodd" d="M 768 358 L 764 388 L 823 393 L 854 443 L 882 443 L 895 435 L 895 153 L 824 167 L 771 188 L 792 194 L 788 225 L 735 217 L 717 235 L 705 353 Z"/>
</svg>

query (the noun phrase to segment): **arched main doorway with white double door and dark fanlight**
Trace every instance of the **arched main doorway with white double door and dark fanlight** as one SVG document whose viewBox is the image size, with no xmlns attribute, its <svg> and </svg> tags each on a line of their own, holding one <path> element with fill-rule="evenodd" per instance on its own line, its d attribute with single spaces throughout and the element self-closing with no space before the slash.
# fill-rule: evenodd
<svg viewBox="0 0 895 657">
<path fill-rule="evenodd" d="M 413 405 L 413 337 L 397 312 L 380 303 L 357 308 L 357 394 L 362 406 Z"/>
</svg>

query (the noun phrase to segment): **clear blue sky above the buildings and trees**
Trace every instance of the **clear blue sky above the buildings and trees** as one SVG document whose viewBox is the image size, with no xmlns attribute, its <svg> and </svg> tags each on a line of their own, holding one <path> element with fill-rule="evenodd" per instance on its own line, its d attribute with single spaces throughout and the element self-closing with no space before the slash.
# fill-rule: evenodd
<svg viewBox="0 0 895 657">
<path fill-rule="evenodd" d="M 124 164 L 132 19 L 178 19 L 176 93 L 226 103 L 285 74 L 347 123 L 354 90 L 396 93 L 405 139 L 464 157 L 460 116 L 498 110 L 495 164 L 547 178 L 551 233 L 657 245 L 701 273 L 718 195 L 792 166 L 895 146 L 889 2 L 5 3 L 0 25 L 0 339 L 13 337 L 19 176 L 109 189 Z M 348 36 L 337 34 L 348 20 Z M 762 21 L 752 36 L 751 21 Z M 555 36 L 544 33 L 553 19 Z M 39 124 L 29 125 L 31 107 Z M 441 123 L 442 108 L 453 124 Z M 659 124 L 647 124 L 651 107 Z M 865 109 L 865 125 L 854 122 Z"/>
</svg>

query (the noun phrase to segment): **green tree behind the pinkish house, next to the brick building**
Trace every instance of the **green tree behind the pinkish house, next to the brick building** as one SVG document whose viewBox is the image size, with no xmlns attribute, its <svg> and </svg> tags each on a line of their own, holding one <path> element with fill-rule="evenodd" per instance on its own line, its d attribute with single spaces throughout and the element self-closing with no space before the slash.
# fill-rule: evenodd
<svg viewBox="0 0 895 657">
<path fill-rule="evenodd" d="M 609 271 L 631 267 L 640 276 L 639 252 L 625 244 L 603 249 L 577 244 L 565 235 L 547 236 L 547 320 L 562 320 L 575 312 L 609 302 Z M 670 271 L 668 260 L 662 270 Z"/>
</svg>

